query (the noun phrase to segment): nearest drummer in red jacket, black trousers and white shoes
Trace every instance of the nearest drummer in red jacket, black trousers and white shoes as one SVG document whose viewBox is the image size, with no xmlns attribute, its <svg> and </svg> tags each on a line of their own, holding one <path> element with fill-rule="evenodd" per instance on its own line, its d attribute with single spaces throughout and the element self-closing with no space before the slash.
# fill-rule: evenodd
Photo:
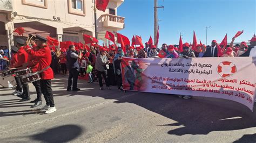
<svg viewBox="0 0 256 143">
<path fill-rule="evenodd" d="M 42 108 L 42 110 L 46 110 L 45 113 L 52 113 L 56 111 L 53 94 L 51 89 L 51 79 L 53 79 L 53 71 L 50 68 L 51 65 L 51 51 L 48 45 L 46 45 L 47 39 L 42 37 L 41 35 L 36 35 L 36 45 L 38 47 L 38 51 L 33 51 L 33 49 L 28 46 L 25 47 L 25 51 L 32 55 L 33 58 L 38 59 L 39 66 L 37 71 L 41 73 L 41 91 L 44 95 L 46 105 Z M 27 42 L 26 45 L 29 45 Z"/>
</svg>

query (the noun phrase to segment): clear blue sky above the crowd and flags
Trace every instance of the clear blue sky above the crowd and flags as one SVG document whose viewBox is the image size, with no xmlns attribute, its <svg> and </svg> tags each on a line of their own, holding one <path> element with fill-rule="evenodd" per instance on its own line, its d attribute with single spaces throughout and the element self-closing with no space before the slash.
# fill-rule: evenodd
<svg viewBox="0 0 256 143">
<path fill-rule="evenodd" d="M 213 39 L 220 43 L 227 33 L 228 42 L 238 31 L 244 33 L 235 42 L 248 41 L 256 32 L 256 0 L 158 0 L 159 44 L 179 44 L 180 32 L 183 43 L 197 41 L 207 44 Z M 119 33 L 130 39 L 137 34 L 143 42 L 154 36 L 154 0 L 125 0 L 117 15 L 125 17 L 125 28 Z"/>
</svg>

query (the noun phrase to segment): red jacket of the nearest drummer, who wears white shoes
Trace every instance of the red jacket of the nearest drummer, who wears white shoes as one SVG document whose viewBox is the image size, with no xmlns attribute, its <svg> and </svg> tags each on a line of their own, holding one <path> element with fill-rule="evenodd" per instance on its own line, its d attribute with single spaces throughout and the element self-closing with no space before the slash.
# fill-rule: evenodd
<svg viewBox="0 0 256 143">
<path fill-rule="evenodd" d="M 38 49 L 38 51 L 34 51 L 33 49 L 27 48 L 26 52 L 32 55 L 33 58 L 38 59 L 38 71 L 51 65 L 51 50 L 48 45 L 44 45 L 42 48 Z M 53 71 L 50 67 L 41 73 L 42 80 L 51 80 L 52 78 Z"/>
</svg>

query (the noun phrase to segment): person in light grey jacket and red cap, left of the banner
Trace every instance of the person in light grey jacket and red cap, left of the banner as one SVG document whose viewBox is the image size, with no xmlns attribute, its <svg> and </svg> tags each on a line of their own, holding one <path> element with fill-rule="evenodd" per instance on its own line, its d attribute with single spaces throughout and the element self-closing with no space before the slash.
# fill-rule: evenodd
<svg viewBox="0 0 256 143">
<path fill-rule="evenodd" d="M 107 49 L 100 46 L 99 51 L 100 53 L 98 53 L 97 59 L 96 59 L 96 70 L 97 70 L 97 77 L 99 79 L 99 89 L 103 90 L 103 83 L 102 83 L 102 76 L 103 76 L 106 83 L 107 90 L 110 90 L 109 81 L 106 78 L 106 70 L 108 69 L 109 67 L 108 64 L 110 62 L 106 56 Z"/>
</svg>

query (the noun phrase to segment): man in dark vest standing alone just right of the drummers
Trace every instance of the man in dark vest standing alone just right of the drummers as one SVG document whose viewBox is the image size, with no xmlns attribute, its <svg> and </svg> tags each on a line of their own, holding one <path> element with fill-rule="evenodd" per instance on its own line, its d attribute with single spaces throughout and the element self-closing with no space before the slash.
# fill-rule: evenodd
<svg viewBox="0 0 256 143">
<path fill-rule="evenodd" d="M 66 66 L 68 67 L 68 70 L 69 70 L 68 88 L 66 89 L 67 91 L 71 90 L 71 86 L 73 91 L 80 90 L 79 88 L 77 88 L 77 80 L 79 75 L 78 59 L 82 58 L 82 52 L 79 52 L 78 55 L 75 52 L 76 52 L 75 45 L 70 45 L 69 50 L 66 53 L 66 60 L 68 61 Z"/>
</svg>

